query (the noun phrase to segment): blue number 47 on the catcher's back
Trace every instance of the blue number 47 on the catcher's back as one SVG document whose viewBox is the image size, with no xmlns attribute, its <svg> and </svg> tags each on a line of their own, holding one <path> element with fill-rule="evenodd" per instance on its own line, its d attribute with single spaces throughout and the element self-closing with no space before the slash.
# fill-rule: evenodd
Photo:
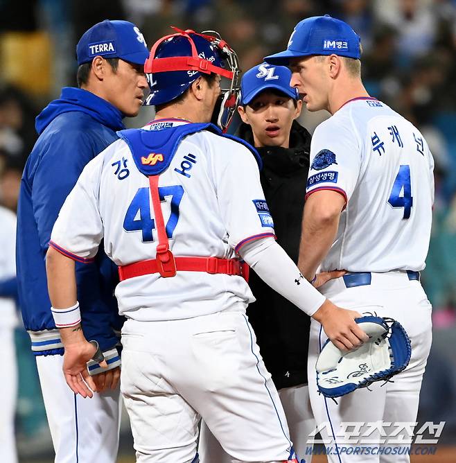
<svg viewBox="0 0 456 463">
<path fill-rule="evenodd" d="M 168 238 L 173 238 L 173 232 L 179 220 L 179 204 L 184 195 L 184 189 L 181 185 L 160 186 L 158 192 L 161 201 L 171 197 L 171 213 L 166 223 L 166 235 Z M 155 220 L 150 214 L 150 191 L 147 187 L 140 188 L 134 195 L 125 214 L 123 228 L 125 231 L 141 231 L 143 242 L 154 241 L 152 230 L 155 229 Z"/>
</svg>

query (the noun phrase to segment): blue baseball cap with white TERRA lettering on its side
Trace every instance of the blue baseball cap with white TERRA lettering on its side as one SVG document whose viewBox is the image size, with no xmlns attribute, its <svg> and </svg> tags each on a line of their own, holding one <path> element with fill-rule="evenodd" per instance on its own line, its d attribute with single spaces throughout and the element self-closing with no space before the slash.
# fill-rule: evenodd
<svg viewBox="0 0 456 463">
<path fill-rule="evenodd" d="M 141 31 L 133 23 L 105 19 L 82 34 L 76 45 L 78 64 L 91 62 L 96 56 L 144 64 L 149 51 Z"/>
</svg>

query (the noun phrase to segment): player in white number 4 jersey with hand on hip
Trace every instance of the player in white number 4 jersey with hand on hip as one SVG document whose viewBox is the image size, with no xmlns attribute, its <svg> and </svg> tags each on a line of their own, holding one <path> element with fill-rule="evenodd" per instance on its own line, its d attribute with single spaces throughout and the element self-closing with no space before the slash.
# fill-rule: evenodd
<svg viewBox="0 0 456 463">
<path fill-rule="evenodd" d="M 357 390 L 334 403 L 317 394 L 315 361 L 326 335 L 312 321 L 310 401 L 317 423 L 331 423 L 321 431 L 333 441 L 328 459 L 408 462 L 407 453 L 379 449 L 381 441 L 362 455 L 343 453 L 337 442 L 337 433 L 344 433 L 341 424 L 348 422 L 362 425 L 360 435 L 376 423 L 383 423 L 386 433 L 399 432 L 388 428 L 391 423 L 414 423 L 431 344 L 431 306 L 419 271 L 430 238 L 434 163 L 419 130 L 367 94 L 360 55 L 360 37 L 348 24 L 325 15 L 301 21 L 288 49 L 265 59 L 290 66 L 291 85 L 304 95 L 308 110 L 332 114 L 317 127 L 311 144 L 299 252 L 302 274 L 313 279 L 319 265 L 347 270 L 322 286 L 322 293 L 337 304 L 398 320 L 412 342 L 410 364 L 394 382 L 376 383 L 372 392 Z M 380 439 L 380 432 L 369 433 L 369 439 Z M 404 439 L 406 445 L 407 434 L 401 429 L 396 442 Z"/>
</svg>

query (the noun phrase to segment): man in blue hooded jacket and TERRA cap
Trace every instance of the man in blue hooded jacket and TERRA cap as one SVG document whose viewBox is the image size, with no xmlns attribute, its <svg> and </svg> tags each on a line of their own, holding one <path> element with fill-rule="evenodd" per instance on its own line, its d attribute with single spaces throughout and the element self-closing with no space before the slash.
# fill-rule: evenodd
<svg viewBox="0 0 456 463">
<path fill-rule="evenodd" d="M 112 295 L 116 268 L 103 250 L 89 265 L 80 259 L 76 268 L 82 329 L 87 339 L 98 342 L 108 365 L 89 365 L 98 390 L 105 392 L 94 401 L 83 401 L 68 389 L 62 375 L 64 346 L 51 313 L 44 258 L 60 207 L 82 169 L 117 139 L 123 117 L 139 112 L 147 86 L 143 64 L 148 49 L 134 24 L 106 20 L 82 35 L 76 54 L 79 88 L 62 89 L 60 98 L 37 117 L 40 137 L 22 177 L 19 298 L 37 360 L 55 462 L 112 463 L 119 446 L 121 407 L 115 330 L 123 324 Z M 119 171 L 124 168 L 119 166 Z"/>
</svg>

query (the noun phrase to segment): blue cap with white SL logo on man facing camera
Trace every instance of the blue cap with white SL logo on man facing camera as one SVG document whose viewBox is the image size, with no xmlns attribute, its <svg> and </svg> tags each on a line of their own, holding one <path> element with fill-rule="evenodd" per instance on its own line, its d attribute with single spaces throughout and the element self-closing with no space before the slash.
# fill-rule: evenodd
<svg viewBox="0 0 456 463">
<path fill-rule="evenodd" d="M 291 71 L 284 66 L 263 62 L 249 69 L 240 81 L 241 105 L 248 105 L 261 91 L 275 89 L 290 98 L 299 98 L 298 89 L 290 87 Z"/>
</svg>

